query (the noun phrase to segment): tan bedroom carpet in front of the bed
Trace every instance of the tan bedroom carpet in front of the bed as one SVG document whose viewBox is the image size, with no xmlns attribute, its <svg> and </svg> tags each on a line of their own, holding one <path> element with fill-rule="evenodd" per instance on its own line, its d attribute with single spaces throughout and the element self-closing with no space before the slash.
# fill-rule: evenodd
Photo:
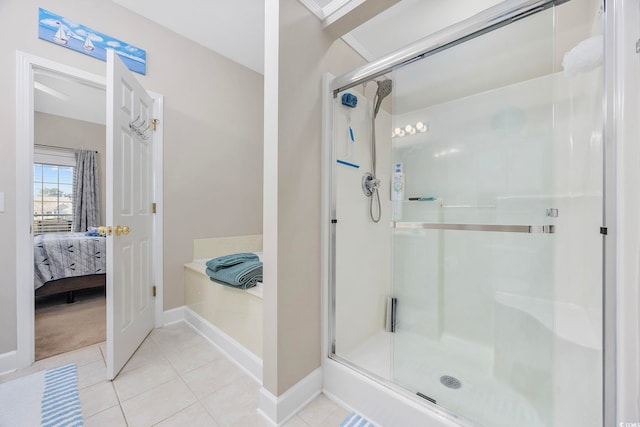
<svg viewBox="0 0 640 427">
<path fill-rule="evenodd" d="M 35 316 L 35 359 L 45 359 L 106 339 L 105 290 L 74 292 L 76 302 L 66 303 L 66 294 L 38 297 Z"/>
</svg>

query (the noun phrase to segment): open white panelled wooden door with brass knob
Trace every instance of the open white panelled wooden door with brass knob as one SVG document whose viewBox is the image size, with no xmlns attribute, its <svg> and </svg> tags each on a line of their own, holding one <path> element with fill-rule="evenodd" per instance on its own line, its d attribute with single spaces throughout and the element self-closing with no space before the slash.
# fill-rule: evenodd
<svg viewBox="0 0 640 427">
<path fill-rule="evenodd" d="M 127 363 L 154 324 L 153 100 L 107 51 L 107 378 Z M 136 129 L 139 129 L 136 132 Z M 144 139 L 143 136 L 148 137 Z M 125 228 L 125 227 L 128 227 Z M 128 232 L 128 234 L 127 234 Z"/>
</svg>

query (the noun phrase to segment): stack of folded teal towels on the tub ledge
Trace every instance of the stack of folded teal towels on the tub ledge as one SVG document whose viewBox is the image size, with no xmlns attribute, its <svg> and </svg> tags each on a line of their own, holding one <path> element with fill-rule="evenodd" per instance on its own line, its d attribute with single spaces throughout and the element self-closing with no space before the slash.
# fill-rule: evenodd
<svg viewBox="0 0 640 427">
<path fill-rule="evenodd" d="M 207 261 L 206 273 L 214 282 L 249 289 L 262 282 L 262 262 L 253 253 L 225 255 Z"/>
</svg>

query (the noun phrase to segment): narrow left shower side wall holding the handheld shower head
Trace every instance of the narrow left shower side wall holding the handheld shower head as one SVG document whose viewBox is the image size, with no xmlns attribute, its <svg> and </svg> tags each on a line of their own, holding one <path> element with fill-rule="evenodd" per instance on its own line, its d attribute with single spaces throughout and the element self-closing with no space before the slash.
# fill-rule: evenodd
<svg viewBox="0 0 640 427">
<path fill-rule="evenodd" d="M 371 171 L 371 102 L 355 90 L 348 92 L 358 97 L 356 108 L 342 105 L 340 98 L 334 100 L 336 156 L 360 166 L 335 165 L 338 220 L 335 256 L 336 354 L 346 357 L 384 330 L 391 268 L 391 119 L 383 109 L 376 119 L 377 177 L 381 182 L 379 193 L 382 207 L 380 222 L 376 224 L 369 218 L 369 198 L 363 194 L 361 185 L 362 175 Z M 346 155 L 350 152 L 351 144 L 349 122 L 355 139 L 351 156 Z"/>
</svg>

